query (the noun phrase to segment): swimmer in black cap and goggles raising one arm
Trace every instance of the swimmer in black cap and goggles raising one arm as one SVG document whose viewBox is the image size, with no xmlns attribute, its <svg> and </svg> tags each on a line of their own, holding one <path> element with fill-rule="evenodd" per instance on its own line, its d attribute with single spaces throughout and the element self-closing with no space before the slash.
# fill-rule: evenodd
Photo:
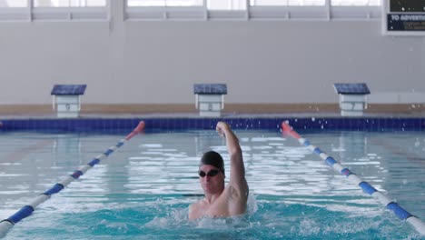
<svg viewBox="0 0 425 240">
<path fill-rule="evenodd" d="M 216 130 L 226 139 L 230 155 L 230 182 L 224 185 L 224 163 L 222 155 L 210 151 L 203 154 L 199 165 L 199 182 L 204 198 L 189 206 L 189 219 L 203 216 L 225 217 L 242 215 L 246 211 L 249 188 L 245 179 L 242 150 L 239 140 L 230 125 L 217 123 Z"/>
</svg>

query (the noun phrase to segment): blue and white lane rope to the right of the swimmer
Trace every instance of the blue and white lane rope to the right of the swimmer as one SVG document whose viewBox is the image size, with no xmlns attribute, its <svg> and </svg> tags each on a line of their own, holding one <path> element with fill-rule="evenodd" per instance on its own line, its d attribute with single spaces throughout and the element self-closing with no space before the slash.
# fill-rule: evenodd
<svg viewBox="0 0 425 240">
<path fill-rule="evenodd" d="M 285 134 L 285 135 L 290 135 L 293 138 L 295 138 L 296 140 L 298 140 L 298 142 L 301 145 L 304 145 L 307 148 L 309 148 L 311 150 L 311 152 L 313 152 L 314 154 L 319 155 L 321 157 L 321 159 L 323 159 L 327 165 L 330 165 L 331 168 L 334 171 L 340 173 L 341 175 L 345 175 L 347 177 L 347 179 L 352 184 L 360 186 L 361 190 L 364 193 L 371 195 L 371 196 L 375 197 L 376 199 L 378 199 L 378 201 L 381 202 L 381 204 L 384 205 L 388 210 L 390 210 L 392 213 L 394 213 L 394 215 L 399 217 L 401 220 L 404 220 L 404 221 L 407 221 L 408 223 L 410 223 L 410 225 L 412 225 L 416 229 L 416 231 L 418 231 L 418 233 L 420 233 L 420 235 L 425 235 L 425 224 L 420 220 L 420 218 L 418 218 L 415 215 L 411 215 L 408 211 L 406 211 L 404 208 L 402 208 L 399 204 L 391 201 L 390 198 L 387 195 L 382 194 L 380 191 L 375 189 L 368 182 L 361 180 L 361 178 L 358 175 L 351 172 L 350 169 L 342 166 L 339 162 L 337 162 L 330 155 L 327 155 L 326 153 L 321 151 L 321 149 L 319 147 L 317 147 L 315 145 L 311 145 L 311 143 L 307 139 L 301 137 L 301 135 L 299 135 L 297 132 L 295 132 L 292 129 L 291 125 L 289 125 L 286 122 L 282 122 L 282 133 Z"/>
</svg>

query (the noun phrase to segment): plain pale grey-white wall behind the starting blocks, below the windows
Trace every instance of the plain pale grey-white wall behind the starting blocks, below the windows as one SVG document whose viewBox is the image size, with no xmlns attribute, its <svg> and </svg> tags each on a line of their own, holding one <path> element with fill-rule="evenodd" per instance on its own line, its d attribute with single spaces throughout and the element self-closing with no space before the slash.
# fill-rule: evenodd
<svg viewBox="0 0 425 240">
<path fill-rule="evenodd" d="M 0 105 L 50 104 L 54 84 L 84 103 L 193 103 L 194 83 L 226 83 L 228 103 L 336 103 L 332 84 L 425 92 L 423 37 L 380 21 L 0 23 Z"/>
</svg>

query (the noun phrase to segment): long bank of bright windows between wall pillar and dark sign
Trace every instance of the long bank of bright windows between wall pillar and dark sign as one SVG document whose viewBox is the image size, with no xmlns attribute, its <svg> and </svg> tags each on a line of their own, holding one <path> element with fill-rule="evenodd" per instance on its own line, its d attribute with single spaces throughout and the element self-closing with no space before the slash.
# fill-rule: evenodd
<svg viewBox="0 0 425 240">
<path fill-rule="evenodd" d="M 381 18 L 381 0 L 127 0 L 125 11 L 145 20 L 370 20 Z"/>
</svg>

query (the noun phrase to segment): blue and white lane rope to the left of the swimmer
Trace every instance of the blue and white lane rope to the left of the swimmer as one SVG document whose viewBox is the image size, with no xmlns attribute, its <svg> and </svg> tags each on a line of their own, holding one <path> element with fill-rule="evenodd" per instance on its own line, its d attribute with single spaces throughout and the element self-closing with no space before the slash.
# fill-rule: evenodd
<svg viewBox="0 0 425 240">
<path fill-rule="evenodd" d="M 141 121 L 139 125 L 137 125 L 133 132 L 127 135 L 124 139 L 120 140 L 116 145 L 108 148 L 104 154 L 96 156 L 92 161 L 90 161 L 87 165 L 80 166 L 77 170 L 74 171 L 72 175 L 68 175 L 61 182 L 53 185 L 50 189 L 45 191 L 43 194 L 38 195 L 35 200 L 29 205 L 23 206 L 20 210 L 18 210 L 14 215 L 9 216 L 8 218 L 2 220 L 0 222 L 0 238 L 5 237 L 7 232 L 18 222 L 20 222 L 25 217 L 31 215 L 35 211 L 35 207 L 44 203 L 51 195 L 57 194 L 64 189 L 65 186 L 69 185 L 75 179 L 78 179 L 81 175 L 84 175 L 90 168 L 94 167 L 100 163 L 102 159 L 114 153 L 118 147 L 124 145 L 126 141 L 129 141 L 134 135 L 138 135 L 143 131 L 144 122 Z"/>
</svg>

